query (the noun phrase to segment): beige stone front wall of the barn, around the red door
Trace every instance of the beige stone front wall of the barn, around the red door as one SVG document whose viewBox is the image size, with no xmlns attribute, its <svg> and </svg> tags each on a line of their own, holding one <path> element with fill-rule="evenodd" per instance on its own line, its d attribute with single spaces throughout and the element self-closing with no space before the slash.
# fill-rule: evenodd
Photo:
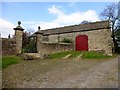
<svg viewBox="0 0 120 90">
<path fill-rule="evenodd" d="M 112 55 L 113 42 L 112 42 L 111 34 L 112 33 L 110 29 L 99 29 L 99 30 L 84 31 L 84 32 L 55 34 L 55 35 L 49 35 L 49 42 L 58 43 L 58 36 L 59 36 L 59 41 L 62 41 L 64 38 L 69 38 L 74 42 L 73 48 L 75 48 L 76 36 L 87 35 L 89 51 L 104 50 L 105 54 Z"/>
</svg>

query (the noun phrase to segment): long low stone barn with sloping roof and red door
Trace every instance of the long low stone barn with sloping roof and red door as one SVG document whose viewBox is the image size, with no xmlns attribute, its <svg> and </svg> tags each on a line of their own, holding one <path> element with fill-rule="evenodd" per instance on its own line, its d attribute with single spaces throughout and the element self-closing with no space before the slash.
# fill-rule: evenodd
<svg viewBox="0 0 120 90">
<path fill-rule="evenodd" d="M 102 51 L 112 55 L 111 34 L 110 21 L 98 21 L 47 30 L 38 27 L 34 35 L 40 55 L 68 50 Z"/>
</svg>

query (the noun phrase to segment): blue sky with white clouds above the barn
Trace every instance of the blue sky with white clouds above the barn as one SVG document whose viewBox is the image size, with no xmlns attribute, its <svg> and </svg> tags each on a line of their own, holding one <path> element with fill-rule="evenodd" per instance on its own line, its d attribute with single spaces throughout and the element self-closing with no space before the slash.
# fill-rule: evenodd
<svg viewBox="0 0 120 90">
<path fill-rule="evenodd" d="M 99 21 L 100 12 L 111 2 L 2 2 L 0 33 L 13 35 L 17 22 L 29 31 Z"/>
</svg>

